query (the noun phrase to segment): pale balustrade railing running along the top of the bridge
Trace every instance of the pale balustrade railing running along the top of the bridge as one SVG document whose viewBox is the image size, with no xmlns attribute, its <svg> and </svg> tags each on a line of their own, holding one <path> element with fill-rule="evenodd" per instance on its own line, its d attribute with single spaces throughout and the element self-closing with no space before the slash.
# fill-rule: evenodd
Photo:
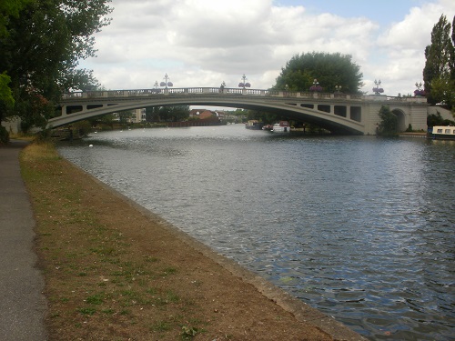
<svg viewBox="0 0 455 341">
<path fill-rule="evenodd" d="M 132 90 L 106 90 L 72 92 L 62 95 L 63 99 L 77 98 L 118 98 L 143 97 L 153 95 L 251 95 L 268 97 L 291 97 L 308 99 L 348 99 L 348 100 L 377 100 L 426 103 L 425 97 L 396 97 L 387 95 L 349 95 L 341 93 L 292 92 L 280 90 L 263 90 L 247 88 L 220 88 L 220 87 L 183 87 L 183 88 L 153 88 Z"/>
</svg>

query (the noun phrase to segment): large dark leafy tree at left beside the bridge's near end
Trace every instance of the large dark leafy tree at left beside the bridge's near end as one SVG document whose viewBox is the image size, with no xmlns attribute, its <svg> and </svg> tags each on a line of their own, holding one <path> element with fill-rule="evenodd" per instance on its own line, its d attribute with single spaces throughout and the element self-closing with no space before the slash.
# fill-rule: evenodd
<svg viewBox="0 0 455 341">
<path fill-rule="evenodd" d="M 15 105 L 0 103 L 0 120 L 21 117 L 25 125 L 45 126 L 54 105 L 68 89 L 87 90 L 98 84 L 81 59 L 95 56 L 94 33 L 108 25 L 110 0 L 3 0 L 22 3 L 8 16 L 0 39 L 0 71 L 7 72 Z M 0 6 L 0 9 L 2 7 Z M 3 16 L 2 16 L 3 17 Z M 1 31 L 0 23 L 0 31 Z M 7 81 L 8 79 L 6 79 Z M 5 80 L 3 81 L 5 82 Z"/>
</svg>

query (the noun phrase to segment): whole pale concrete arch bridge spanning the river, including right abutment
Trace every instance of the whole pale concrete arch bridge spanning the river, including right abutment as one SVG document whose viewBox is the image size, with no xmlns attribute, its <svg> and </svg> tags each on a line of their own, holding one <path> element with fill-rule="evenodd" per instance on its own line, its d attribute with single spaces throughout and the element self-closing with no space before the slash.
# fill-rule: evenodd
<svg viewBox="0 0 455 341">
<path fill-rule="evenodd" d="M 186 87 L 75 92 L 63 95 L 49 128 L 98 115 L 162 105 L 210 105 L 262 110 L 324 127 L 335 134 L 376 135 L 381 105 L 398 116 L 399 131 L 427 129 L 424 97 L 345 95 L 245 88 Z"/>
</svg>

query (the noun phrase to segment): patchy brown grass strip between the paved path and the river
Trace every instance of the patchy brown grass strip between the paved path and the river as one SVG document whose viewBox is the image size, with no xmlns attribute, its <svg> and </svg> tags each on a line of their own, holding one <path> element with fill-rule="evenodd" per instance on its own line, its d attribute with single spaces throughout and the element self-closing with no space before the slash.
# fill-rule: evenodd
<svg viewBox="0 0 455 341">
<path fill-rule="evenodd" d="M 20 161 L 50 340 L 331 339 L 62 159 L 54 145 L 28 145 Z"/>
</svg>

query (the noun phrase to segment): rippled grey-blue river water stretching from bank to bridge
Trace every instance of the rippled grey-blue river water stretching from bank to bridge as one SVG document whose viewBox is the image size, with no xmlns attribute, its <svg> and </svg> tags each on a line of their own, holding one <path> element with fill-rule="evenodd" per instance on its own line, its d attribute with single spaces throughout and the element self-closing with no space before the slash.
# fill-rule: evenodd
<svg viewBox="0 0 455 341">
<path fill-rule="evenodd" d="M 227 125 L 98 133 L 59 151 L 364 336 L 453 339 L 453 143 Z"/>
</svg>

